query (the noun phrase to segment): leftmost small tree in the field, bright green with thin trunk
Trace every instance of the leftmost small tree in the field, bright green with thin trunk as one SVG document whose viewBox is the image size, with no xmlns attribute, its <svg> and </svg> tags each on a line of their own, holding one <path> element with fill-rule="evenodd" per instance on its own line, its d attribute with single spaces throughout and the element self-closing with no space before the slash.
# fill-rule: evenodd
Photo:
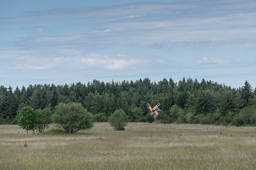
<svg viewBox="0 0 256 170">
<path fill-rule="evenodd" d="M 20 110 L 20 115 L 18 119 L 18 124 L 21 128 L 27 130 L 33 130 L 36 126 L 36 114 L 35 111 L 30 107 L 23 107 Z"/>
</svg>

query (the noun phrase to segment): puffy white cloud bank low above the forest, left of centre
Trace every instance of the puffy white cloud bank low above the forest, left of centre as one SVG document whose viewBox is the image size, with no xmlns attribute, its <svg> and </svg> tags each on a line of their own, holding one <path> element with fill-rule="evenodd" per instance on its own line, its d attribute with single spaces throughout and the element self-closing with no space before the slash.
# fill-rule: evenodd
<svg viewBox="0 0 256 170">
<path fill-rule="evenodd" d="M 38 62 L 40 61 L 40 62 Z M 78 70 L 129 70 L 145 63 L 141 58 L 125 55 L 77 55 L 65 57 L 23 56 L 17 59 L 12 70 L 16 71 L 78 71 Z"/>
</svg>

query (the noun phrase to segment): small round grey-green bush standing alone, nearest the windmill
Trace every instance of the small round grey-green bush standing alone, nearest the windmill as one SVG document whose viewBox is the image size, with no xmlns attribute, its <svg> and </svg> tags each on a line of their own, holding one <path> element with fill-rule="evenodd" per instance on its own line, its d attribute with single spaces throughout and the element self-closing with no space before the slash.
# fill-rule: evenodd
<svg viewBox="0 0 256 170">
<path fill-rule="evenodd" d="M 123 109 L 116 110 L 109 118 L 108 123 L 116 131 L 124 131 L 124 126 L 127 126 L 129 122 L 128 116 Z"/>
</svg>

